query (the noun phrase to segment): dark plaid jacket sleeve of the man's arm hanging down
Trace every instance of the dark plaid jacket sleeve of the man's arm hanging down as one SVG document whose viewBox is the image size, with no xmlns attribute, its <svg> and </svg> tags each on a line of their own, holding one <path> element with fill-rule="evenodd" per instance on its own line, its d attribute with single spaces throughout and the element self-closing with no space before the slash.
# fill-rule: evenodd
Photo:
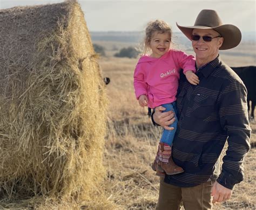
<svg viewBox="0 0 256 210">
<path fill-rule="evenodd" d="M 246 95 L 244 84 L 237 81 L 227 85 L 220 96 L 219 117 L 228 135 L 228 148 L 217 181 L 229 189 L 244 179 L 242 160 L 250 149 Z"/>
</svg>

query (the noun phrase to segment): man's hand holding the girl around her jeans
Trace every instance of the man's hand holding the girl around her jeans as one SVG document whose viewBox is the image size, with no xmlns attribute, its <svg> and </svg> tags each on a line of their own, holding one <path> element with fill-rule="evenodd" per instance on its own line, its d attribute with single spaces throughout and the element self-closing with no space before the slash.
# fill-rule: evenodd
<svg viewBox="0 0 256 210">
<path fill-rule="evenodd" d="M 173 111 L 163 112 L 165 107 L 158 106 L 155 109 L 153 114 L 154 122 L 158 125 L 161 125 L 165 128 L 165 130 L 173 130 L 174 127 L 169 127 L 169 125 L 173 124 L 175 121 Z"/>
</svg>

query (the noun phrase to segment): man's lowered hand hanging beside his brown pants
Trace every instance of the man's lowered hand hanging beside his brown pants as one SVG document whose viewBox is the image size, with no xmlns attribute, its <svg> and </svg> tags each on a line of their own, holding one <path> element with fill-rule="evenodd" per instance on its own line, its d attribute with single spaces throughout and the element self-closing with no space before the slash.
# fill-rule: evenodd
<svg viewBox="0 0 256 210">
<path fill-rule="evenodd" d="M 232 189 L 228 189 L 221 184 L 219 184 L 217 181 L 214 182 L 212 186 L 212 203 L 214 204 L 215 202 L 223 202 L 228 199 L 230 199 L 232 195 Z"/>
</svg>

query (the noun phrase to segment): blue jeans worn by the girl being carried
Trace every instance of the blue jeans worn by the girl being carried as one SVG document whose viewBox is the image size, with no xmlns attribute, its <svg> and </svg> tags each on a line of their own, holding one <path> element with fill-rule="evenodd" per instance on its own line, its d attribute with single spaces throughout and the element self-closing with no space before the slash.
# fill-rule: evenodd
<svg viewBox="0 0 256 210">
<path fill-rule="evenodd" d="M 174 117 L 176 119 L 173 124 L 169 125 L 169 127 L 174 127 L 174 130 L 169 131 L 169 130 L 164 129 L 163 134 L 162 134 L 161 139 L 160 139 L 160 142 L 166 143 L 169 146 L 171 146 L 173 138 L 174 138 L 174 134 L 177 130 L 177 124 L 178 124 L 178 119 L 177 119 L 177 116 L 176 116 L 176 113 L 177 113 L 176 101 L 174 101 L 173 103 L 170 103 L 170 104 L 162 104 L 161 106 L 165 107 L 165 109 L 166 109 L 163 112 L 173 111 Z"/>
</svg>

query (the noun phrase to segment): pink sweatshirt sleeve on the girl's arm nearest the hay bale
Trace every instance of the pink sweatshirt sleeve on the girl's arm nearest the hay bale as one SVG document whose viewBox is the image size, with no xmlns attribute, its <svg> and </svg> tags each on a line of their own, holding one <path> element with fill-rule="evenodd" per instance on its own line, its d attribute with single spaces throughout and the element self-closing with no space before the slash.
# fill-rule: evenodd
<svg viewBox="0 0 256 210">
<path fill-rule="evenodd" d="M 133 85 L 137 100 L 142 94 L 147 96 L 147 83 L 145 82 L 145 74 L 141 65 L 137 64 L 133 75 Z"/>
</svg>

